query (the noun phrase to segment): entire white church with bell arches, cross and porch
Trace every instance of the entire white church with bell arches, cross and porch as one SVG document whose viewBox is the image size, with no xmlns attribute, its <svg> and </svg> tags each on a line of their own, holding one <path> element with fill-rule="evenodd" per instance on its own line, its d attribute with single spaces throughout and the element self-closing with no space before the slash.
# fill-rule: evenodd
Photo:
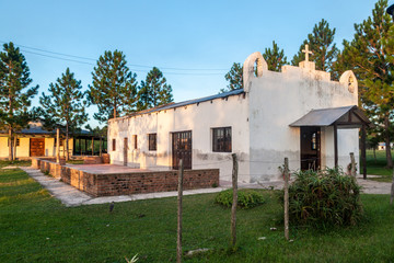
<svg viewBox="0 0 394 263">
<path fill-rule="evenodd" d="M 240 182 L 279 180 L 290 170 L 344 168 L 359 158 L 359 128 L 370 125 L 357 107 L 352 71 L 339 82 L 306 59 L 269 71 L 260 53 L 244 62 L 243 89 L 137 112 L 108 121 L 111 162 L 148 170 L 220 169 L 231 181 L 232 153 Z M 358 170 L 360 171 L 360 170 Z"/>
</svg>

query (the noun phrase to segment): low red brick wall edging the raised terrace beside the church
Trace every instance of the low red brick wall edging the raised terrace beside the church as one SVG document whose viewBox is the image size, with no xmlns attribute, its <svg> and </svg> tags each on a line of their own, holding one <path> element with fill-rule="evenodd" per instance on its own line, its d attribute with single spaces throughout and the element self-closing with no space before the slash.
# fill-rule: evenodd
<svg viewBox="0 0 394 263">
<path fill-rule="evenodd" d="M 177 190 L 177 171 L 93 174 L 61 168 L 61 180 L 93 196 L 130 195 Z M 185 170 L 184 190 L 219 185 L 219 169 Z"/>
</svg>

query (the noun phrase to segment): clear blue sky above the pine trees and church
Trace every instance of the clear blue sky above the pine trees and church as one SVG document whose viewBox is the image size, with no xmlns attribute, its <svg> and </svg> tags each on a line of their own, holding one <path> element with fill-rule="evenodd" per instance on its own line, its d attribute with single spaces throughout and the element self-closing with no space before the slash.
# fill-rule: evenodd
<svg viewBox="0 0 394 263">
<path fill-rule="evenodd" d="M 371 15 L 374 3 L 0 0 L 0 42 L 20 45 L 33 83 L 40 87 L 39 95 L 67 67 L 88 89 L 95 60 L 105 50 L 119 49 L 139 81 L 153 66 L 159 67 L 179 102 L 218 93 L 227 85 L 224 75 L 233 62 L 263 53 L 273 41 L 291 60 L 322 19 L 336 28 L 335 39 L 341 48 L 344 38 L 352 38 L 354 24 Z M 33 104 L 38 105 L 38 95 Z M 97 125 L 94 111 L 89 110 L 93 126 Z"/>
</svg>

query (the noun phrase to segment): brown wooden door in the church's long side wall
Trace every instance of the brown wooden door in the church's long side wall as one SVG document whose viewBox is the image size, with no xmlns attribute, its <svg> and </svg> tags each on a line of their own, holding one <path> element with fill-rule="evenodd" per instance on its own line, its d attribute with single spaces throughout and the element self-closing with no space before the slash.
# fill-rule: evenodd
<svg viewBox="0 0 394 263">
<path fill-rule="evenodd" d="M 183 159 L 184 169 L 192 169 L 192 130 L 172 134 L 173 169 L 179 169 Z"/>
</svg>

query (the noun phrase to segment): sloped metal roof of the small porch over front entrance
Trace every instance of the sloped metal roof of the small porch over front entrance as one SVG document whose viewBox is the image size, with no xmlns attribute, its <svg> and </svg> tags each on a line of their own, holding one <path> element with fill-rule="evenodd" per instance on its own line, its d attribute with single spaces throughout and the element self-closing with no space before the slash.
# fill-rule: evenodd
<svg viewBox="0 0 394 263">
<path fill-rule="evenodd" d="M 294 123 L 290 124 L 291 127 L 302 127 L 302 126 L 331 126 L 338 119 L 343 118 L 347 114 L 356 114 L 358 121 L 349 122 L 349 126 L 360 126 L 366 124 L 371 125 L 371 122 L 364 115 L 362 111 L 356 105 L 343 106 L 343 107 L 329 107 L 329 108 L 320 108 L 312 110 Z M 361 121 L 360 121 L 361 119 Z M 346 126 L 346 123 L 340 123 L 340 125 Z"/>
</svg>

